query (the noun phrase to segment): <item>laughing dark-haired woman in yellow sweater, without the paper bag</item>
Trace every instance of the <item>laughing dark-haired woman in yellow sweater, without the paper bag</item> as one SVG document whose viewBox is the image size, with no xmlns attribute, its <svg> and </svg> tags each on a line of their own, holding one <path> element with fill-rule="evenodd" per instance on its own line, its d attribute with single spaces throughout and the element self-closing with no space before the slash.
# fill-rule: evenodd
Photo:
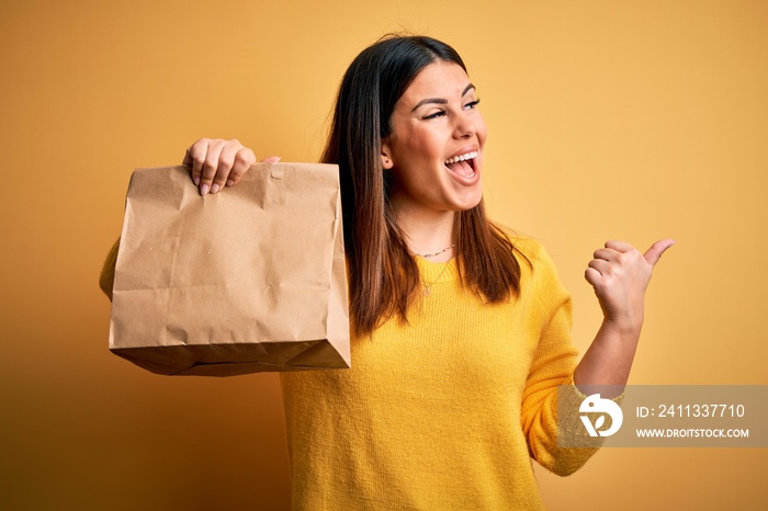
<svg viewBox="0 0 768 511">
<path fill-rule="evenodd" d="M 626 383 L 673 241 L 595 252 L 585 276 L 605 320 L 576 365 L 549 254 L 485 216 L 478 102 L 429 37 L 384 38 L 343 77 L 323 161 L 340 169 L 352 368 L 282 374 L 295 509 L 540 509 L 530 458 L 565 475 L 594 452 L 557 446 L 558 423 L 581 428 L 573 384 Z M 203 195 L 255 161 L 237 140 L 184 158 Z"/>
</svg>

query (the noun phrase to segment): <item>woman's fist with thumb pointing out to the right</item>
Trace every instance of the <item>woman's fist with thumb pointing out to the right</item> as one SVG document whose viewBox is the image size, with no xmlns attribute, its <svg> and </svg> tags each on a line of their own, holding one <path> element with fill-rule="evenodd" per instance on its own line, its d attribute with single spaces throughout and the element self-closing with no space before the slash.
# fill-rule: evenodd
<svg viewBox="0 0 768 511">
<path fill-rule="evenodd" d="M 671 239 L 656 241 L 643 254 L 623 241 L 608 241 L 595 251 L 584 276 L 595 288 L 607 322 L 640 332 L 651 273 L 674 243 Z"/>
</svg>

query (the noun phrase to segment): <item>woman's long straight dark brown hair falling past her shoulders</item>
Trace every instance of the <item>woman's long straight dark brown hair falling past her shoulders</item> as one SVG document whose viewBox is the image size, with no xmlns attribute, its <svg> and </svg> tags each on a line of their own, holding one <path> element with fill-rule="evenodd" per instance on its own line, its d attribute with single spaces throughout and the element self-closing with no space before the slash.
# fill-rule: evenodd
<svg viewBox="0 0 768 511">
<path fill-rule="evenodd" d="M 380 158 L 389 117 L 410 82 L 436 60 L 455 63 L 449 45 L 425 36 L 387 36 L 364 49 L 345 73 L 321 161 L 338 163 L 349 263 L 350 316 L 358 334 L 396 315 L 407 320 L 419 270 L 389 204 L 392 177 Z M 520 265 L 510 239 L 485 215 L 483 202 L 456 212 L 455 258 L 461 282 L 498 303 L 520 292 Z"/>
</svg>

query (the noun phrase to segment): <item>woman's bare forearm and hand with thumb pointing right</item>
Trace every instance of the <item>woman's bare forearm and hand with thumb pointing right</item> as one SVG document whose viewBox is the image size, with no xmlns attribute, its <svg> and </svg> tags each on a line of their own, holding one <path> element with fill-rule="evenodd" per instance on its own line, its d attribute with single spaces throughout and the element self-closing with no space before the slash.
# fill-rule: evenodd
<svg viewBox="0 0 768 511">
<path fill-rule="evenodd" d="M 595 288 L 603 320 L 574 373 L 579 390 L 591 394 L 590 385 L 626 384 L 643 326 L 645 289 L 654 265 L 674 243 L 656 241 L 643 254 L 623 241 L 608 241 L 595 251 L 584 276 Z"/>
</svg>

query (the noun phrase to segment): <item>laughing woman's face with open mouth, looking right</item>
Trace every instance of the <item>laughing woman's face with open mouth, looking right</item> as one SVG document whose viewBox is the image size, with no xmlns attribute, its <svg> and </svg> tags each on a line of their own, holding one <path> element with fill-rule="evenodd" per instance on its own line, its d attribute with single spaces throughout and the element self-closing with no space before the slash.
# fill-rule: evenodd
<svg viewBox="0 0 768 511">
<path fill-rule="evenodd" d="M 486 127 L 461 66 L 436 61 L 417 75 L 392 113 L 382 163 L 394 172 L 398 214 L 455 212 L 482 196 Z"/>
</svg>

